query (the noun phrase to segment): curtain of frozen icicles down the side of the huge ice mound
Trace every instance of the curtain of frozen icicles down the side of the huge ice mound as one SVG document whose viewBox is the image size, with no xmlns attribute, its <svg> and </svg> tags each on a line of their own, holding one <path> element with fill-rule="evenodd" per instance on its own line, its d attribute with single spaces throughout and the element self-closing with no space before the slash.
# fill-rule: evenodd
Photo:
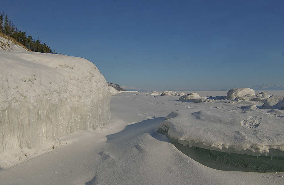
<svg viewBox="0 0 284 185">
<path fill-rule="evenodd" d="M 0 111 L 0 153 L 13 148 L 35 148 L 56 141 L 75 130 L 95 129 L 111 120 L 110 96 L 98 98 L 91 107 L 78 108 L 61 101 L 57 105 L 42 103 L 41 109 L 25 107 Z M 39 107 L 39 106 L 38 106 Z M 15 146 L 15 143 L 19 143 Z"/>
</svg>

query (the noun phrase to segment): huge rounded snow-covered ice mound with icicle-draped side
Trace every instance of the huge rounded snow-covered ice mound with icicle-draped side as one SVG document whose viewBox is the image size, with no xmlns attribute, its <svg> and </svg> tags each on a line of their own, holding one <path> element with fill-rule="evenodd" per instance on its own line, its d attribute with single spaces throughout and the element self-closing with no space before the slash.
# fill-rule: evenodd
<svg viewBox="0 0 284 185">
<path fill-rule="evenodd" d="M 0 156 L 7 155 L 0 167 L 19 161 L 24 150 L 111 119 L 106 80 L 86 59 L 0 51 L 0 65 Z"/>
</svg>

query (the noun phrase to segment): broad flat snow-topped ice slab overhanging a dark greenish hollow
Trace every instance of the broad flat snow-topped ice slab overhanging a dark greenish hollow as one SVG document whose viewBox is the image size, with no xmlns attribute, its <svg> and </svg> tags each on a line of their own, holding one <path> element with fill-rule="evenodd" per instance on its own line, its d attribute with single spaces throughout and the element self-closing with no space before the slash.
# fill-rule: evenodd
<svg viewBox="0 0 284 185">
<path fill-rule="evenodd" d="M 221 111 L 170 113 L 156 128 L 170 140 L 209 150 L 253 156 L 284 156 L 284 122 L 256 105 Z"/>
</svg>

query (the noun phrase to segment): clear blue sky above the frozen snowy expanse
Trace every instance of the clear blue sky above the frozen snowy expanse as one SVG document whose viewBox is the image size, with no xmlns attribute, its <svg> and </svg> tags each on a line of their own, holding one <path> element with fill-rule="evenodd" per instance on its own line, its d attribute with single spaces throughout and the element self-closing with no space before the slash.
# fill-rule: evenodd
<svg viewBox="0 0 284 185">
<path fill-rule="evenodd" d="M 284 84 L 284 1 L 2 1 L 18 30 L 152 90 Z"/>
</svg>

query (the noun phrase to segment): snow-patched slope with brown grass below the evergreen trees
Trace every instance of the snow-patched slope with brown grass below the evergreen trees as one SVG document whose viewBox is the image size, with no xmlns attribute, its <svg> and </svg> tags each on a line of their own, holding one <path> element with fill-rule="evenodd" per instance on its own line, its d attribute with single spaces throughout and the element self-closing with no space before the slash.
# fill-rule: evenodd
<svg viewBox="0 0 284 185">
<path fill-rule="evenodd" d="M 14 39 L 0 33 L 0 51 L 28 51 L 28 49 Z"/>
</svg>

